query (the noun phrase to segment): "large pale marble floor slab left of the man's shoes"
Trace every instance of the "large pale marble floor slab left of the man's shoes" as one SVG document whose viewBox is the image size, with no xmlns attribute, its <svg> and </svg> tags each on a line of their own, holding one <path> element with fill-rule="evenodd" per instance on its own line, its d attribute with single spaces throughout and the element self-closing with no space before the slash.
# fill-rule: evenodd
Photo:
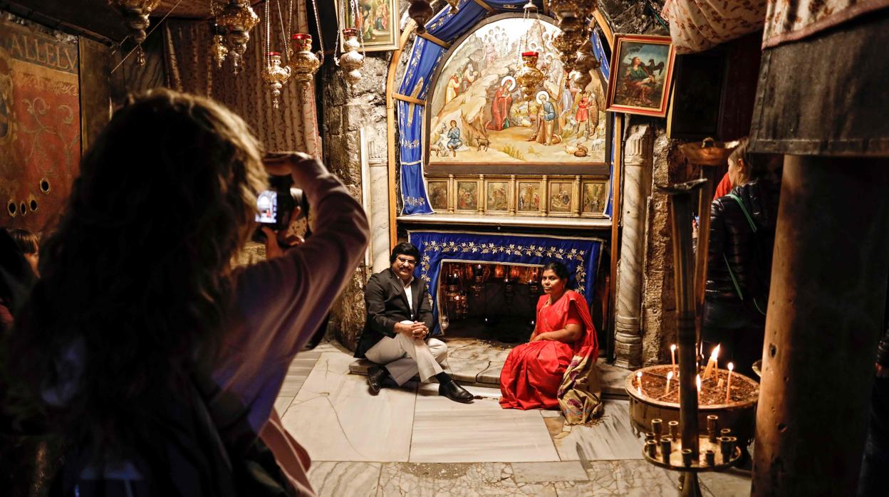
<svg viewBox="0 0 889 497">
<path fill-rule="evenodd" d="M 282 420 L 316 461 L 407 461 L 416 389 L 373 397 L 353 357 L 324 352 Z"/>
</svg>

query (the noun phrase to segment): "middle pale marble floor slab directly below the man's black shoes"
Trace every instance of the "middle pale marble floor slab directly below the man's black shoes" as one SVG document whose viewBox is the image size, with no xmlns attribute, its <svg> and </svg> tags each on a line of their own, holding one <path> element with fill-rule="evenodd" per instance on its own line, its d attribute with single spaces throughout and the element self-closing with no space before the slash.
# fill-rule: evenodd
<svg viewBox="0 0 889 497">
<path fill-rule="evenodd" d="M 503 409 L 499 389 L 469 387 L 485 398 L 459 404 L 421 386 L 411 462 L 558 461 L 540 411 Z"/>
</svg>

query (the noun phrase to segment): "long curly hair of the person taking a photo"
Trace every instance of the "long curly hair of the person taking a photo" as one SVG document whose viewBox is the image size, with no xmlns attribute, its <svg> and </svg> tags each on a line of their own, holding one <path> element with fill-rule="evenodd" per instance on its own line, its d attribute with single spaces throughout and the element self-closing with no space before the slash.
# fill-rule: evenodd
<svg viewBox="0 0 889 497">
<path fill-rule="evenodd" d="M 31 400 L 66 380 L 59 359 L 83 346 L 56 416 L 64 434 L 116 452 L 170 395 L 158 392 L 217 352 L 232 259 L 267 178 L 259 141 L 212 100 L 158 89 L 116 111 L 41 249 L 43 279 L 11 341 Z"/>
</svg>

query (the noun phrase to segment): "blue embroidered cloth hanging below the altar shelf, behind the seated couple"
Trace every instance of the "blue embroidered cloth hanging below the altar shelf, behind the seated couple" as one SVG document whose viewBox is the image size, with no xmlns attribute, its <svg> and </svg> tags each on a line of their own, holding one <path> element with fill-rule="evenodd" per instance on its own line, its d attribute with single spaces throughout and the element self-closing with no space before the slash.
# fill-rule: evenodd
<svg viewBox="0 0 889 497">
<path fill-rule="evenodd" d="M 592 302 L 602 240 L 558 236 L 493 235 L 450 231 L 410 231 L 408 241 L 420 249 L 420 264 L 414 274 L 429 287 L 432 314 L 438 329 L 436 289 L 442 261 L 484 261 L 544 265 L 549 261 L 565 264 L 571 277 L 569 288 Z"/>
</svg>

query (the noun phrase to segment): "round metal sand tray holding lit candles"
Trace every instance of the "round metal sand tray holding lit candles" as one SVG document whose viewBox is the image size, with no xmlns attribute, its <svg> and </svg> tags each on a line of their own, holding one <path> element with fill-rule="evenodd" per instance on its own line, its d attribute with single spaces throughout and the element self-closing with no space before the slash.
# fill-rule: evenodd
<svg viewBox="0 0 889 497">
<path fill-rule="evenodd" d="M 668 421 L 679 420 L 679 381 L 674 376 L 667 389 L 668 373 L 678 372 L 672 365 L 653 365 L 637 370 L 627 376 L 625 387 L 629 395 L 629 411 L 633 428 L 645 433 L 651 421 L 661 418 Z M 637 373 L 642 373 L 641 385 Z M 701 372 L 701 377 L 703 372 Z M 722 379 L 722 385 L 719 380 Z M 707 416 L 719 416 L 719 428 L 730 428 L 741 441 L 752 439 L 756 421 L 756 405 L 759 397 L 759 384 L 740 373 L 732 373 L 732 389 L 726 402 L 725 392 L 728 370 L 714 369 L 709 378 L 701 378 L 699 397 L 698 426 L 705 433 Z"/>
</svg>

